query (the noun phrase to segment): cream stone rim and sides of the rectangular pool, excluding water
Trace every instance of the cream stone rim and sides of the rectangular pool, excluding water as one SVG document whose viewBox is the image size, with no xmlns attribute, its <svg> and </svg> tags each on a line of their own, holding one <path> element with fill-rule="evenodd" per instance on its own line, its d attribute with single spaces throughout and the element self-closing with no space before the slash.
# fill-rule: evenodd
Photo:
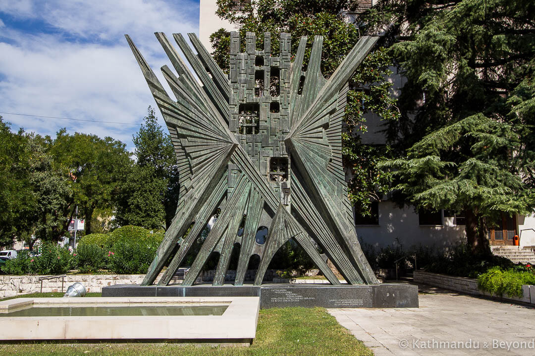
<svg viewBox="0 0 535 356">
<path fill-rule="evenodd" d="M 24 299 L 24 300 L 20 300 Z M 106 303 L 230 303 L 220 316 L 143 316 L 143 317 L 13 317 L 0 323 L 0 340 L 172 340 L 195 343 L 251 343 L 256 336 L 258 297 L 96 297 L 96 298 L 19 298 L 0 302 L 9 310 L 29 303 L 67 306 Z"/>
</svg>

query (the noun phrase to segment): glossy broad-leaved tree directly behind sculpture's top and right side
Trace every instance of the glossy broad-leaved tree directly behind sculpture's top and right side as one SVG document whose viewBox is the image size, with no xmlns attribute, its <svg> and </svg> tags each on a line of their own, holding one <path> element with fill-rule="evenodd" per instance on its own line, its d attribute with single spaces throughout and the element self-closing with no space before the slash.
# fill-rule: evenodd
<svg viewBox="0 0 535 356">
<path fill-rule="evenodd" d="M 343 12 L 357 6 L 353 1 L 304 1 L 304 0 L 259 0 L 243 2 L 236 6 L 233 0 L 218 0 L 217 14 L 230 21 L 242 38 L 247 31 L 263 38 L 263 33 L 270 32 L 272 52 L 278 52 L 279 33 L 292 35 L 292 55 L 295 56 L 299 38 L 308 36 L 308 48 L 304 63 L 308 63 L 311 44 L 315 35 L 324 36 L 322 52 L 322 73 L 328 78 L 338 67 L 344 56 L 353 48 L 360 38 L 360 29 L 344 18 Z M 210 36 L 215 49 L 212 57 L 224 72 L 228 73 L 230 34 L 220 29 Z M 244 46 L 244 41 L 242 41 Z M 258 49 L 263 46 L 257 41 Z M 358 212 L 370 213 L 370 203 L 380 196 L 379 192 L 388 188 L 388 174 L 375 166 L 378 157 L 384 157 L 383 147 L 363 146 L 355 134 L 365 132 L 365 114 L 373 112 L 384 120 L 396 120 L 399 116 L 395 99 L 389 95 L 391 83 L 385 80 L 391 72 L 388 66 L 391 59 L 383 49 L 369 54 L 357 69 L 350 82 L 348 106 L 345 116 L 345 132 L 342 133 L 343 160 L 346 170 L 353 178 L 349 182 L 348 197 Z M 306 65 L 304 65 L 304 70 Z M 362 155 L 366 152 L 365 155 Z"/>
</svg>

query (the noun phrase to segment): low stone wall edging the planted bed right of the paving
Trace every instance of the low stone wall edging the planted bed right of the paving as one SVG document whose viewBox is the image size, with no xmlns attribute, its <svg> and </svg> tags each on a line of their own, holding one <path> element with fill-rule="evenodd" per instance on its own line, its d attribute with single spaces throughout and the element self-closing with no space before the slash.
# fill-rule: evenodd
<svg viewBox="0 0 535 356">
<path fill-rule="evenodd" d="M 535 286 L 522 286 L 523 295 L 521 298 L 518 298 L 509 297 L 506 295 L 493 295 L 489 292 L 479 290 L 477 288 L 477 279 L 473 278 L 456 277 L 447 274 L 430 273 L 423 271 L 414 271 L 413 276 L 415 283 L 428 284 L 429 286 L 454 290 L 465 294 L 499 298 L 514 302 L 522 302 L 535 305 Z"/>
</svg>

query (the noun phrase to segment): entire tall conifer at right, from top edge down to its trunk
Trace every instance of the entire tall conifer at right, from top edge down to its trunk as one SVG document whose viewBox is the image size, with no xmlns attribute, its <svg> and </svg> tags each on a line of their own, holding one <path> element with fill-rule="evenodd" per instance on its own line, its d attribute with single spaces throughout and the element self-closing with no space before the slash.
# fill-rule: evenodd
<svg viewBox="0 0 535 356">
<path fill-rule="evenodd" d="M 400 202 L 463 210 L 472 251 L 490 252 L 492 217 L 535 206 L 535 3 L 385 0 L 368 21 L 407 77 L 389 127 L 402 159 L 384 164 Z"/>
</svg>

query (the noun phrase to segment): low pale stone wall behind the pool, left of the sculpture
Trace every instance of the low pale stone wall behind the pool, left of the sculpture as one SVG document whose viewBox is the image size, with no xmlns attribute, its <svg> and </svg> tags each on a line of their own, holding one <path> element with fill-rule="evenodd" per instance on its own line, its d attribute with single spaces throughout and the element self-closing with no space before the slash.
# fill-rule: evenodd
<svg viewBox="0 0 535 356">
<path fill-rule="evenodd" d="M 144 274 L 0 275 L 0 298 L 35 292 L 65 292 L 71 284 L 82 283 L 88 292 L 100 292 L 113 284 L 140 284 Z"/>
</svg>

